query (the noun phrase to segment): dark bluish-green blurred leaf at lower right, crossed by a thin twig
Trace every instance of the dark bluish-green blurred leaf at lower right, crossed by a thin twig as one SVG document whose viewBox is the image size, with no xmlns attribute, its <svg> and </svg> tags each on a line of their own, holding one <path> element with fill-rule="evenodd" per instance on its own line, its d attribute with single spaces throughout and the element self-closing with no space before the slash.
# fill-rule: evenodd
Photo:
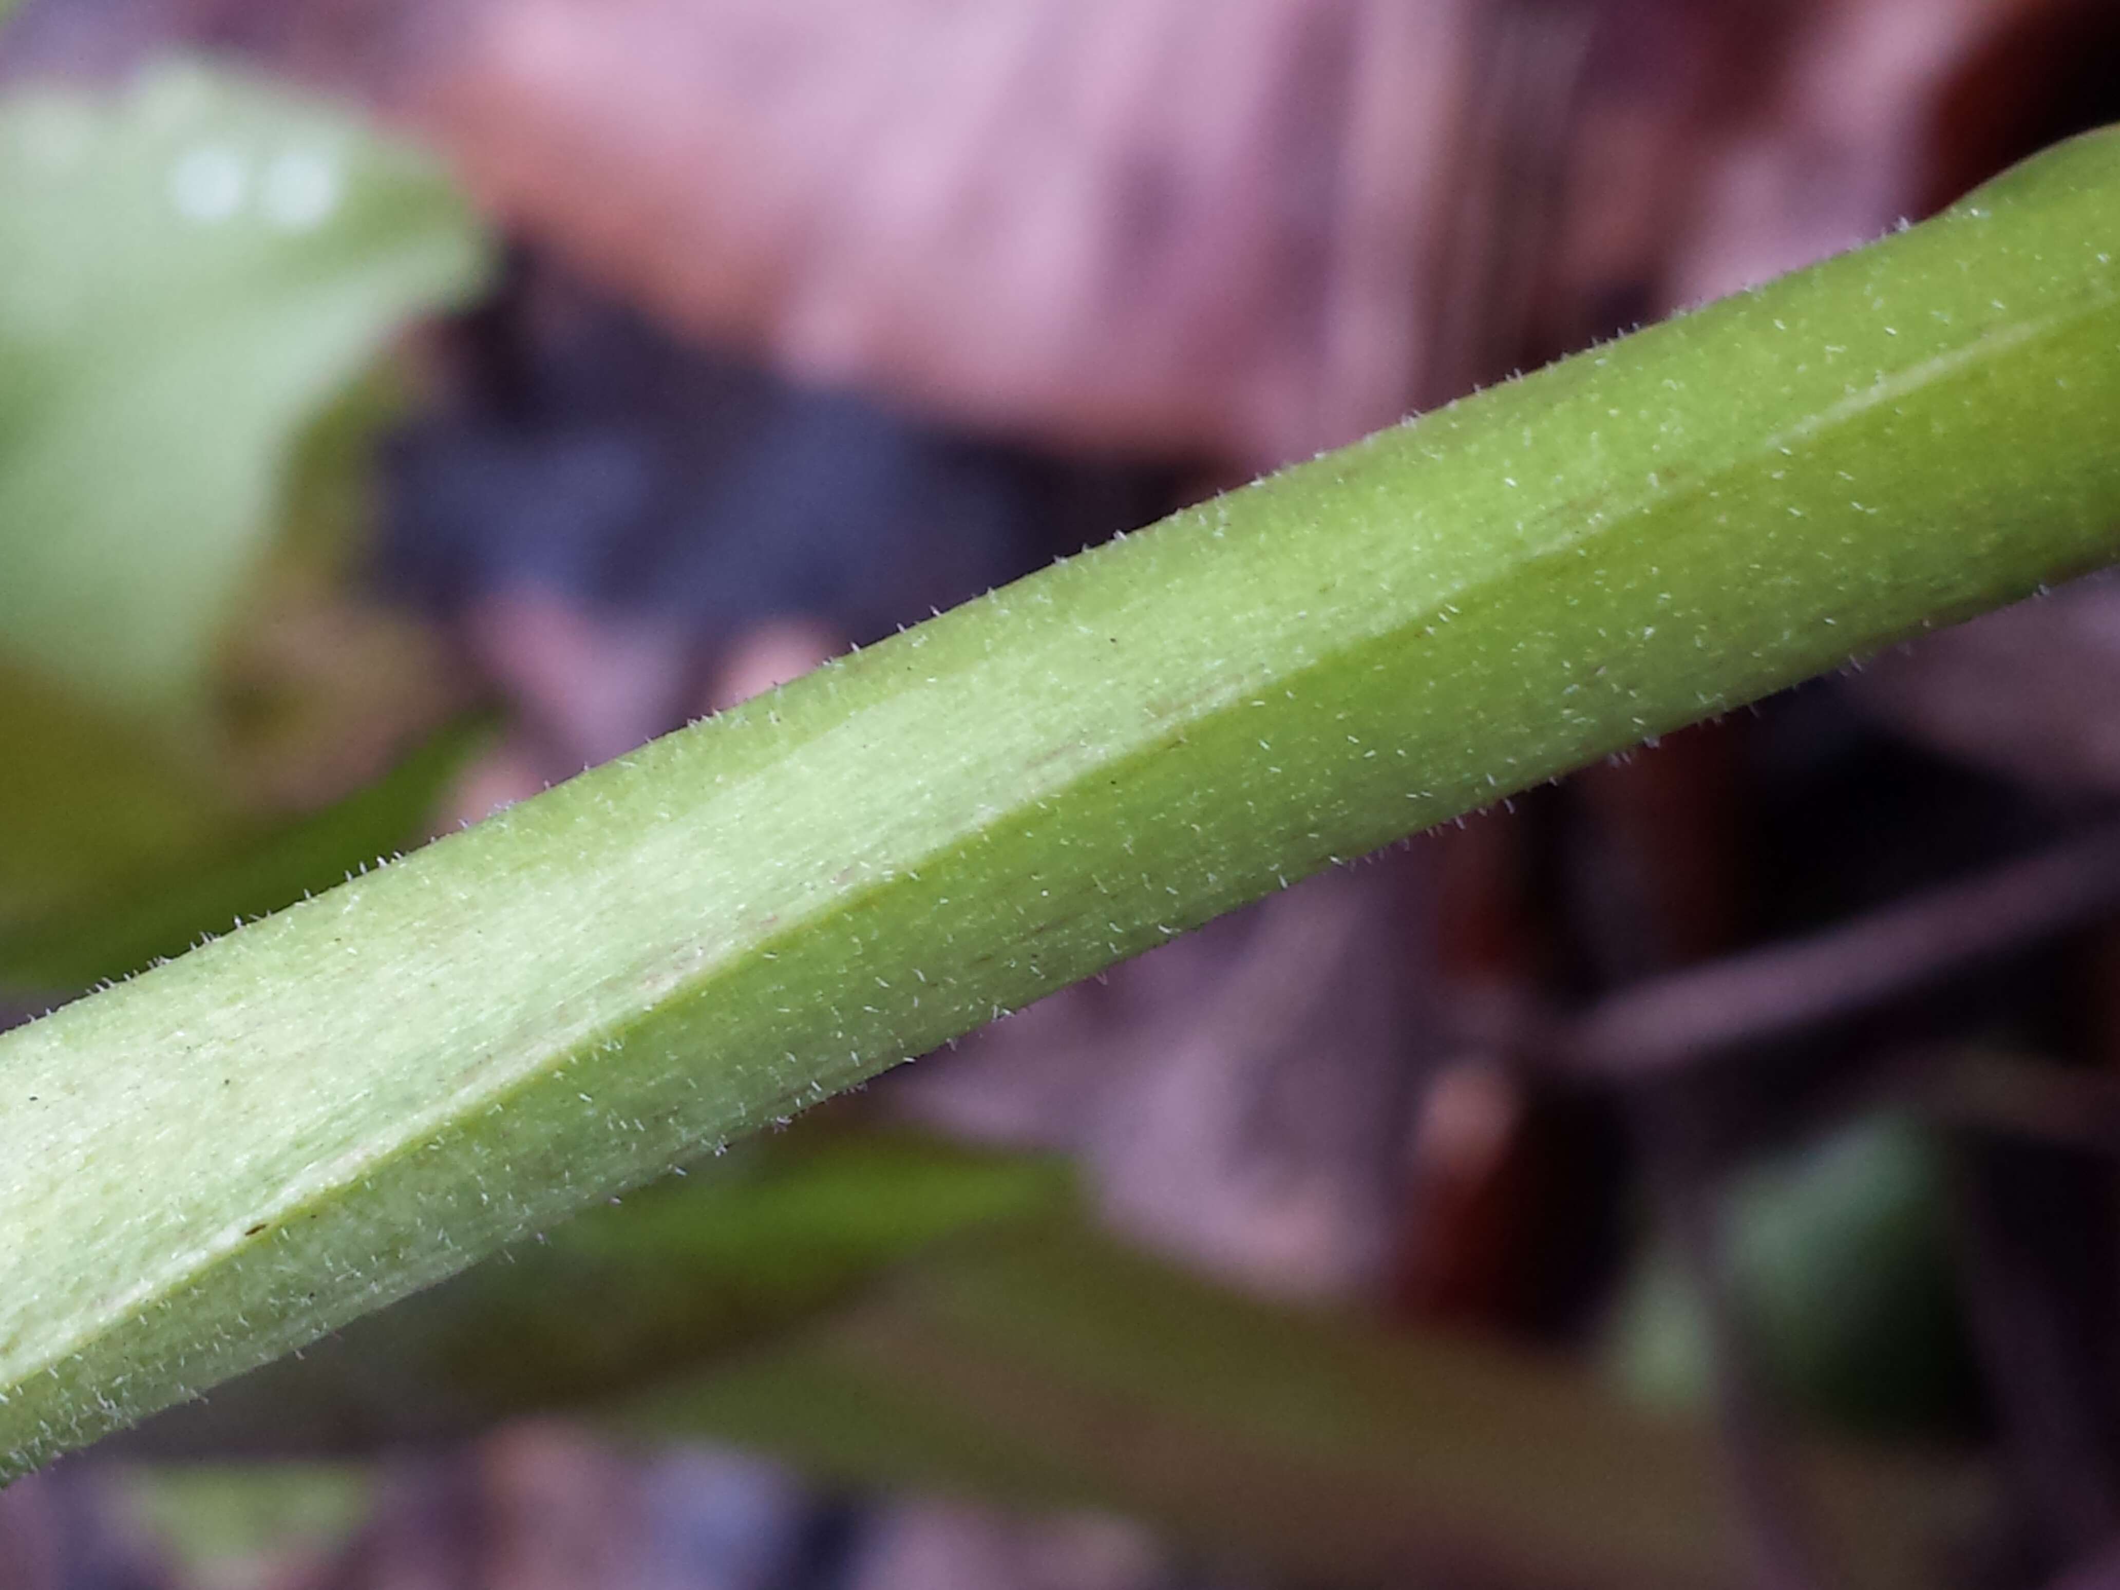
<svg viewBox="0 0 2120 1590">
<path fill-rule="evenodd" d="M 1963 1433 L 1976 1370 L 1950 1276 L 1936 1143 L 1857 1121 L 1741 1177 L 1724 1211 L 1732 1297 L 1787 1406 L 1847 1429 Z M 1713 1359 L 1700 1297 L 1668 1249 L 1615 1317 L 1613 1365 L 1658 1403 L 1700 1403 Z"/>
</svg>

